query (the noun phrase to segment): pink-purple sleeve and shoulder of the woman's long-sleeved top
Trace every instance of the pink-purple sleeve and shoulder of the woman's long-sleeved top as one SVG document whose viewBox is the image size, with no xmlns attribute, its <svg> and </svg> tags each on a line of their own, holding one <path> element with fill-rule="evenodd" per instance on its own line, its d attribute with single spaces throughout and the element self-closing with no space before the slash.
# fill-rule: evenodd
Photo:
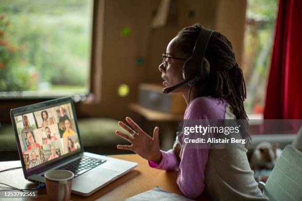
<svg viewBox="0 0 302 201">
<path fill-rule="evenodd" d="M 199 97 L 189 102 L 184 119 L 225 119 L 226 101 L 211 97 Z M 177 185 L 182 193 L 189 198 L 196 198 L 204 190 L 204 170 L 208 161 L 209 148 L 189 149 L 183 145 L 181 160 L 178 162 L 173 149 L 161 151 L 162 160 L 159 164 L 149 161 L 151 167 L 163 170 L 177 170 Z"/>
</svg>

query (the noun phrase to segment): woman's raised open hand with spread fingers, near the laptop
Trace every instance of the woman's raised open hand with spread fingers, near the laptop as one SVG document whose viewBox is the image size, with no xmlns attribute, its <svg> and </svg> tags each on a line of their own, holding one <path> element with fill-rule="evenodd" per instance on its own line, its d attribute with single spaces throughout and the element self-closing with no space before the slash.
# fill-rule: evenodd
<svg viewBox="0 0 302 201">
<path fill-rule="evenodd" d="M 118 149 L 131 150 L 141 157 L 160 163 L 161 153 L 159 149 L 158 127 L 154 128 L 153 138 L 146 134 L 130 117 L 126 117 L 126 121 L 131 125 L 130 128 L 123 122 L 119 121 L 118 125 L 123 127 L 131 136 L 115 131 L 115 134 L 131 142 L 131 145 L 117 145 Z"/>
</svg>

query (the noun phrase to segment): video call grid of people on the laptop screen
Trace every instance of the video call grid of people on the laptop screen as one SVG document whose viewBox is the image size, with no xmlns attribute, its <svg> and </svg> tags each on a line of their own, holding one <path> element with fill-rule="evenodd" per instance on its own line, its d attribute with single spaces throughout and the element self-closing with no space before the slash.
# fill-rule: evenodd
<svg viewBox="0 0 302 201">
<path fill-rule="evenodd" d="M 16 113 L 14 120 L 26 169 L 80 149 L 70 102 Z"/>
</svg>

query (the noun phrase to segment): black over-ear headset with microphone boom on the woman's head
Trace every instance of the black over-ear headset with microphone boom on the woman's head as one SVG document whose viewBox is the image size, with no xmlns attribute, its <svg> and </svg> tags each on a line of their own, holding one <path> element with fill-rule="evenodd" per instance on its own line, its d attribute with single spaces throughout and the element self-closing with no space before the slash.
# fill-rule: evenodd
<svg viewBox="0 0 302 201">
<path fill-rule="evenodd" d="M 184 80 L 171 87 L 164 88 L 162 90 L 164 94 L 168 94 L 173 90 L 187 84 L 193 86 L 209 74 L 210 64 L 207 59 L 204 58 L 204 54 L 212 33 L 213 30 L 205 28 L 201 29 L 194 46 L 192 56 L 185 62 L 183 66 L 182 73 Z"/>
</svg>

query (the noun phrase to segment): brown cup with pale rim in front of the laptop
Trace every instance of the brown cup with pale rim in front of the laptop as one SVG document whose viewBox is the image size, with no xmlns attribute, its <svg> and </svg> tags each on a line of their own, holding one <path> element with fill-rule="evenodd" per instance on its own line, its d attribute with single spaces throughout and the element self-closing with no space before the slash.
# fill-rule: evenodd
<svg viewBox="0 0 302 201">
<path fill-rule="evenodd" d="M 74 173 L 69 170 L 54 169 L 44 174 L 49 201 L 69 201 Z"/>
</svg>

